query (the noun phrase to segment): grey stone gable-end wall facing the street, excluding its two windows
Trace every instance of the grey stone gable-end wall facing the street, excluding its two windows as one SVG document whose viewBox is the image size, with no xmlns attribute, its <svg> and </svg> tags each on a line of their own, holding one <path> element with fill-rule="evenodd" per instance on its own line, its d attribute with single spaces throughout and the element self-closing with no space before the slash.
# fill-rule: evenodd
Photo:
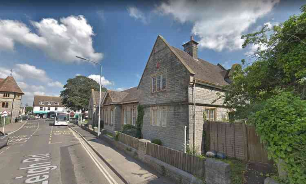
<svg viewBox="0 0 306 184">
<path fill-rule="evenodd" d="M 159 68 L 156 67 L 157 62 L 160 63 Z M 166 75 L 166 90 L 152 93 L 151 77 L 161 74 Z M 167 147 L 183 149 L 183 126 L 188 125 L 189 76 L 184 65 L 158 37 L 139 85 L 140 104 L 144 105 L 144 138 L 158 138 Z M 166 128 L 151 126 L 150 108 L 161 106 L 167 108 Z"/>
</svg>

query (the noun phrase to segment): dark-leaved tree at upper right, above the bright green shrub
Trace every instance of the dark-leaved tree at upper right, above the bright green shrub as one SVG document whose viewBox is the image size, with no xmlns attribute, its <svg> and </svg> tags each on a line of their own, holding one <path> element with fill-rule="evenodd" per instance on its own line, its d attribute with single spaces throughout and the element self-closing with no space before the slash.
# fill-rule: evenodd
<svg viewBox="0 0 306 184">
<path fill-rule="evenodd" d="M 300 10 L 280 25 L 265 25 L 241 37 L 242 48 L 256 45 L 257 50 L 249 55 L 251 63 L 242 59 L 235 67 L 233 82 L 225 87 L 228 92 L 219 95 L 236 117 L 247 118 L 282 91 L 306 99 L 306 5 Z"/>
</svg>

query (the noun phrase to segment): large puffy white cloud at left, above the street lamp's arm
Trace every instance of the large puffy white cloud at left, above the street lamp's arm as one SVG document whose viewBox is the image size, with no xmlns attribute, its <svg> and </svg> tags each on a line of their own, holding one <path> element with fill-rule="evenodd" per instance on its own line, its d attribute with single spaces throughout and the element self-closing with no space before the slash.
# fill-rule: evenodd
<svg viewBox="0 0 306 184">
<path fill-rule="evenodd" d="M 37 34 L 16 20 L 0 20 L 0 50 L 13 51 L 15 43 L 41 49 L 52 59 L 63 62 L 79 61 L 75 56 L 99 61 L 103 54 L 92 46 L 94 36 L 84 16 L 63 17 L 60 21 L 43 18 L 32 21 Z"/>
</svg>

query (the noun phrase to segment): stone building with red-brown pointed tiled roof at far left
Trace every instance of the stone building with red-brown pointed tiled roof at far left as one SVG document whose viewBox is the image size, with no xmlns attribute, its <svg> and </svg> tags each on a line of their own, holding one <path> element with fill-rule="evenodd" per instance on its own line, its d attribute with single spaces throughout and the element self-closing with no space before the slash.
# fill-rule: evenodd
<svg viewBox="0 0 306 184">
<path fill-rule="evenodd" d="M 12 75 L 6 79 L 0 78 L 0 112 L 4 110 L 9 112 L 11 114 L 10 122 L 14 122 L 15 117 L 19 115 L 23 94 Z"/>
</svg>

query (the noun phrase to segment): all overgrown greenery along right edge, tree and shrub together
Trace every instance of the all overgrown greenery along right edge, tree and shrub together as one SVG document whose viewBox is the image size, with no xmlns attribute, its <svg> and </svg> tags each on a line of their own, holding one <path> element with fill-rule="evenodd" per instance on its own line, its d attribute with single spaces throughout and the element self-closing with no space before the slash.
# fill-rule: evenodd
<svg viewBox="0 0 306 184">
<path fill-rule="evenodd" d="M 265 25 L 242 36 L 243 48 L 257 46 L 230 71 L 224 104 L 234 119 L 245 119 L 275 162 L 283 159 L 288 177 L 282 183 L 306 183 L 306 5 L 300 15 L 279 25 Z"/>
</svg>

